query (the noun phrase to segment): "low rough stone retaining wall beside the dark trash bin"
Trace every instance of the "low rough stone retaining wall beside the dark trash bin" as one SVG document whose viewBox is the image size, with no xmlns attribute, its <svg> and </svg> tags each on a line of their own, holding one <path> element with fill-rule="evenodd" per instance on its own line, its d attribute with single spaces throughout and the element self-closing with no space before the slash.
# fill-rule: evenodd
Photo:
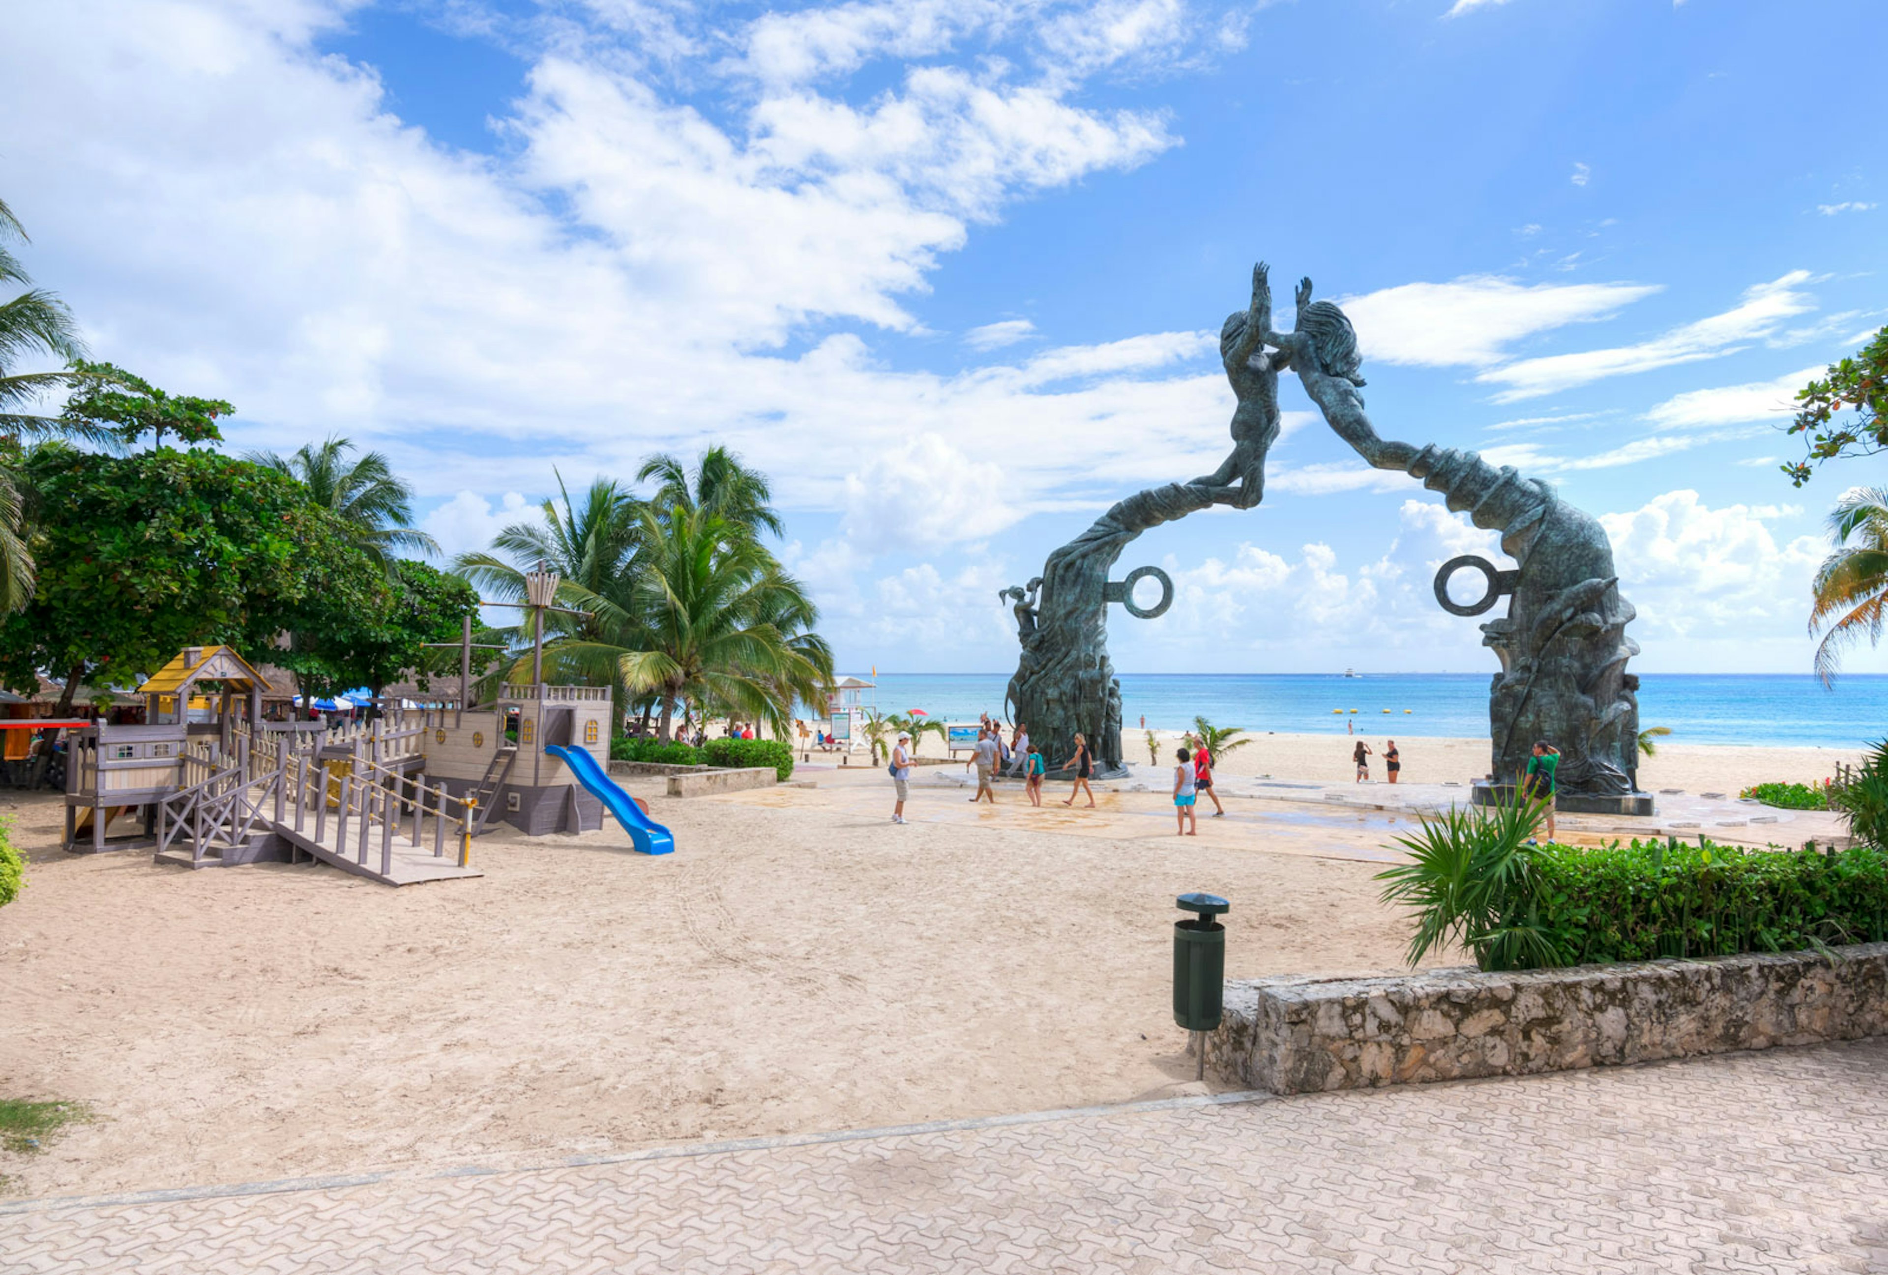
<svg viewBox="0 0 1888 1275">
<path fill-rule="evenodd" d="M 1274 1094 L 1888 1034 L 1888 943 L 1573 969 L 1225 985 L 1206 1060 Z"/>
</svg>

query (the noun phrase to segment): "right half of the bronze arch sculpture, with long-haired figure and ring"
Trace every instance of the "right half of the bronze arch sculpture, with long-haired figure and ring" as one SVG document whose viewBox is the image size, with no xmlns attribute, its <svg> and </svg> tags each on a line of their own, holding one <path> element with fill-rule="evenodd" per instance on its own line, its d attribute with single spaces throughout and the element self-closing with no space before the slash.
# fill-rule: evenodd
<svg viewBox="0 0 1888 1275">
<path fill-rule="evenodd" d="M 1495 571 L 1482 558 L 1458 558 L 1437 577 L 1437 600 L 1459 615 L 1510 594 L 1509 613 L 1482 624 L 1482 643 L 1495 651 L 1488 702 L 1493 745 L 1493 788 L 1516 783 L 1537 739 L 1561 751 L 1556 775 L 1563 809 L 1652 813 L 1639 792 L 1639 679 L 1626 662 L 1639 643 L 1626 636 L 1633 607 L 1620 596 L 1612 541 L 1599 522 L 1565 504 L 1541 479 L 1495 468 L 1473 451 L 1412 447 L 1376 436 L 1357 389 L 1357 336 L 1344 311 L 1310 298 L 1310 279 L 1297 289 L 1293 332 L 1267 332 L 1305 383 L 1323 419 L 1378 470 L 1405 470 L 1442 492 L 1456 513 L 1501 532 L 1501 551 L 1520 566 Z M 1490 579 L 1488 596 L 1459 607 L 1446 579 L 1456 566 L 1476 566 Z M 1484 788 L 1482 794 L 1488 794 Z M 1478 794 L 1480 800 L 1480 794 Z"/>
</svg>

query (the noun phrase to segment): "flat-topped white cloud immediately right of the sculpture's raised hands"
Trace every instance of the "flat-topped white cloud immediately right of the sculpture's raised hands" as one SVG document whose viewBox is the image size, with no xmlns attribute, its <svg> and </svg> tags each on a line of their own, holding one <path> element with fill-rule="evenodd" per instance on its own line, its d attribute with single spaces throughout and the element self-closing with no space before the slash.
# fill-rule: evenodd
<svg viewBox="0 0 1888 1275">
<path fill-rule="evenodd" d="M 1467 275 L 1452 283 L 1405 283 L 1340 304 L 1365 358 L 1424 368 L 1486 368 L 1509 345 L 1569 323 L 1610 319 L 1660 289 L 1643 283 L 1535 283 Z"/>
</svg>

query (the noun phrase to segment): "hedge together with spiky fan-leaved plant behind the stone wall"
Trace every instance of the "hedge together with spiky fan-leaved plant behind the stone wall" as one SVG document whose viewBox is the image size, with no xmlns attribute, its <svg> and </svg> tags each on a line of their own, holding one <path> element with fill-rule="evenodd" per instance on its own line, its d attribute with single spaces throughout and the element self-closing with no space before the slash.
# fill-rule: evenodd
<svg viewBox="0 0 1888 1275">
<path fill-rule="evenodd" d="M 1450 811 L 1401 837 L 1384 900 L 1416 911 L 1410 964 L 1465 945 L 1482 969 L 1784 952 L 1888 937 L 1888 853 L 1631 841 L 1529 845 L 1527 807 Z"/>
</svg>

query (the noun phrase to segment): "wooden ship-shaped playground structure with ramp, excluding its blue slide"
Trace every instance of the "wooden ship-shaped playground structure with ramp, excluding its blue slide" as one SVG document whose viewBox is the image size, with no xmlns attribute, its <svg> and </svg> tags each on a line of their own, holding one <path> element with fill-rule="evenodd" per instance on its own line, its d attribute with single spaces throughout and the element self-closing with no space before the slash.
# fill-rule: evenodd
<svg viewBox="0 0 1888 1275">
<path fill-rule="evenodd" d="M 189 720 L 191 692 L 211 687 L 213 720 Z M 606 687 L 504 685 L 493 707 L 391 705 L 338 726 L 264 720 L 264 687 L 230 647 L 189 647 L 138 688 L 143 724 L 72 730 L 66 849 L 187 868 L 312 858 L 412 885 L 480 875 L 472 837 L 493 819 L 529 836 L 602 826 L 602 802 L 544 749 L 608 768 Z"/>
</svg>

